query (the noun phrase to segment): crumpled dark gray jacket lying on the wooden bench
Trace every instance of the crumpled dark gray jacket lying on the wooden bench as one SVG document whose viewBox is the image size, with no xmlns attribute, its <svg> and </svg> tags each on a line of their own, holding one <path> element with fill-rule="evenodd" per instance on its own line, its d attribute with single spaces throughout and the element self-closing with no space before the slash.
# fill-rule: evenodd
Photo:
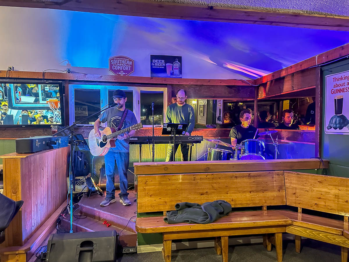
<svg viewBox="0 0 349 262">
<path fill-rule="evenodd" d="M 164 217 L 166 223 L 208 224 L 231 212 L 231 205 L 225 200 L 206 202 L 202 205 L 182 202 L 177 203 L 174 207 L 176 211 L 166 212 L 166 217 Z"/>
</svg>

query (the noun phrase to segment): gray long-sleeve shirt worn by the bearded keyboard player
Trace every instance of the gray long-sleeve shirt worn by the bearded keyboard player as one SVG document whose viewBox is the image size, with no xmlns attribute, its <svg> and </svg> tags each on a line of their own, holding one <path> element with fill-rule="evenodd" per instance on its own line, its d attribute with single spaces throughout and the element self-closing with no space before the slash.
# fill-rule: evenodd
<svg viewBox="0 0 349 262">
<path fill-rule="evenodd" d="M 188 124 L 187 132 L 191 134 L 195 126 L 194 108 L 187 103 L 182 106 L 170 104 L 166 111 L 166 123 Z"/>
</svg>

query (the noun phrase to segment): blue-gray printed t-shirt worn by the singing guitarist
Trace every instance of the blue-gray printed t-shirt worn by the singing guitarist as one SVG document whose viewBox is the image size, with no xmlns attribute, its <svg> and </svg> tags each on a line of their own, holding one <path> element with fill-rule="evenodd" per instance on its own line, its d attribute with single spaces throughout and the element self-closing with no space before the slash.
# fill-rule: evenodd
<svg viewBox="0 0 349 262">
<path fill-rule="evenodd" d="M 101 120 L 102 123 L 105 123 L 107 121 L 107 126 L 109 126 L 110 128 L 118 129 L 118 126 L 120 124 L 120 120 L 123 114 L 124 114 L 124 111 L 120 111 L 116 107 L 112 107 L 105 110 L 99 116 L 99 120 Z M 129 126 L 132 126 L 135 124 L 137 124 L 137 119 L 134 113 L 131 110 L 128 110 L 124 124 L 122 125 L 121 129 L 128 128 Z M 110 150 L 117 151 L 117 152 L 129 152 L 128 142 L 129 142 L 129 139 L 124 139 L 124 140 L 116 139 L 115 147 L 111 147 Z"/>
</svg>

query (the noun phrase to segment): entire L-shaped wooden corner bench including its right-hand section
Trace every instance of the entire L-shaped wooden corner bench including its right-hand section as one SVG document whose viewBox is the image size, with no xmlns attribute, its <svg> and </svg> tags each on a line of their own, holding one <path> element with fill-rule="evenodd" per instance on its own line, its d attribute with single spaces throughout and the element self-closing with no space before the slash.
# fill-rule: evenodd
<svg viewBox="0 0 349 262">
<path fill-rule="evenodd" d="M 315 165 L 312 161 L 309 163 Z M 135 168 L 135 173 L 141 174 L 138 175 L 138 213 L 163 211 L 165 216 L 165 211 L 174 210 L 178 202 L 202 204 L 218 199 L 228 201 L 233 208 L 262 206 L 261 211 L 233 211 L 229 216 L 206 225 L 166 224 L 163 216 L 137 218 L 138 232 L 163 234 L 165 261 L 171 260 L 172 240 L 209 236 L 216 237 L 215 250 L 217 254 L 222 252 L 223 261 L 227 261 L 228 236 L 248 234 L 264 234 L 263 245 L 267 250 L 271 250 L 271 244 L 275 245 L 277 260 L 282 261 L 282 232 L 295 235 L 298 253 L 304 236 L 341 246 L 342 262 L 348 261 L 348 178 L 291 171 L 233 172 L 233 168 L 253 169 L 242 162 L 218 166 L 216 162 L 205 161 L 196 168 L 189 163 L 190 168 L 177 166 L 177 174 L 169 173 L 176 169 L 173 163 L 169 166 L 149 163 L 149 166 L 147 169 Z M 266 162 L 261 168 L 268 168 Z M 217 169 L 226 169 L 227 172 L 207 173 Z M 181 170 L 189 172 L 179 173 Z M 287 206 L 284 210 L 270 210 L 269 207 L 267 211 L 267 206 L 274 205 L 297 207 L 298 212 L 287 210 Z M 344 219 L 304 214 L 302 208 L 341 215 Z"/>
</svg>

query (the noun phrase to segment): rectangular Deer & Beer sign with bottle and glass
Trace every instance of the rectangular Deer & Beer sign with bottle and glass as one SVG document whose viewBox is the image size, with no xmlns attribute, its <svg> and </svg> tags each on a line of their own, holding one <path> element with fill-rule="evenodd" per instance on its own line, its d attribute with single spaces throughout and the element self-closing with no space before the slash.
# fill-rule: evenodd
<svg viewBox="0 0 349 262">
<path fill-rule="evenodd" d="M 182 78 L 182 57 L 151 54 L 150 76 Z"/>
</svg>

